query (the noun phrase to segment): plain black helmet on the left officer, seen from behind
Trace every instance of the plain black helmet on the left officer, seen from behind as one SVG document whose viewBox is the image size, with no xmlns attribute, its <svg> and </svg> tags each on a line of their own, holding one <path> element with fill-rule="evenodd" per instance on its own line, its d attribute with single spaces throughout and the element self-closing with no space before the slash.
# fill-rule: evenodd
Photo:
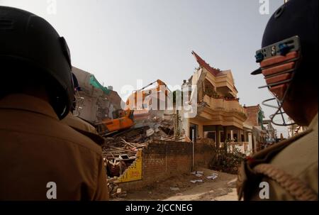
<svg viewBox="0 0 319 215">
<path fill-rule="evenodd" d="M 28 11 L 0 6 L 0 98 L 44 91 L 59 118 L 74 97 L 72 65 L 64 38 Z"/>
</svg>

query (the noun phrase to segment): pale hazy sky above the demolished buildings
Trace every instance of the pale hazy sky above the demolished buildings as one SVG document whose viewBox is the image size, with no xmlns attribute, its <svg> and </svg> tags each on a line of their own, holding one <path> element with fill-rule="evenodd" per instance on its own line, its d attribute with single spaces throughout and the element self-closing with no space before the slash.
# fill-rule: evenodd
<svg viewBox="0 0 319 215">
<path fill-rule="evenodd" d="M 267 21 L 283 3 L 269 0 L 270 14 L 262 15 L 259 0 L 0 0 L 49 21 L 66 38 L 72 64 L 119 94 L 123 85 L 136 88 L 137 79 L 181 84 L 198 67 L 194 50 L 211 66 L 233 71 L 247 106 L 272 97 L 250 72 L 258 67 L 254 53 Z M 274 113 L 262 108 L 267 118 Z M 286 128 L 278 130 L 286 136 Z"/>
</svg>

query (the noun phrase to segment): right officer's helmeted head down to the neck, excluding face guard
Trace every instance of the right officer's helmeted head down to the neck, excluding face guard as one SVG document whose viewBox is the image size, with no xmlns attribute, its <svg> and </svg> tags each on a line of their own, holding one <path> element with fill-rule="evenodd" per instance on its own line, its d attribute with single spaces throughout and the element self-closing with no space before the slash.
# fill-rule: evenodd
<svg viewBox="0 0 319 215">
<path fill-rule="evenodd" d="M 301 61 L 284 109 L 300 125 L 307 125 L 310 112 L 318 113 L 318 0 L 290 0 L 281 6 L 267 24 L 262 47 L 295 35 L 301 40 Z"/>
</svg>

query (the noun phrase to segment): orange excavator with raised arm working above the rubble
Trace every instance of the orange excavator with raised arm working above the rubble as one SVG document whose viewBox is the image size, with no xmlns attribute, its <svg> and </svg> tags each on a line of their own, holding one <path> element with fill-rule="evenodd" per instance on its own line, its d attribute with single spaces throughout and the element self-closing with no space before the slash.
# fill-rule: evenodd
<svg viewBox="0 0 319 215">
<path fill-rule="evenodd" d="M 152 89 L 147 89 L 147 87 L 152 86 L 157 83 L 157 87 Z M 96 125 L 97 131 L 100 135 L 106 136 L 111 133 L 116 133 L 118 131 L 123 131 L 134 126 L 134 111 L 139 109 L 140 98 L 142 97 L 142 108 L 144 108 L 145 97 L 149 96 L 152 92 L 156 91 L 159 94 L 162 90 L 162 87 L 165 87 L 165 95 L 168 95 L 167 85 L 164 84 L 161 80 L 157 80 L 156 82 L 152 82 L 148 84 L 146 87 L 133 92 L 132 95 L 126 101 L 125 110 L 120 110 L 116 113 L 115 119 L 104 120 L 101 123 Z"/>
</svg>

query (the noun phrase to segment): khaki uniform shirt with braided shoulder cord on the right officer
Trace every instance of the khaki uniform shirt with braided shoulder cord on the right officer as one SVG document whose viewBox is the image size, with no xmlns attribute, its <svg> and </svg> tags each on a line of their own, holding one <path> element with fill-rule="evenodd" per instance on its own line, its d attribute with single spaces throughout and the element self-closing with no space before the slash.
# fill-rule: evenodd
<svg viewBox="0 0 319 215">
<path fill-rule="evenodd" d="M 240 199 L 264 200 L 259 197 L 261 182 L 269 183 L 269 199 L 265 200 L 318 199 L 318 115 L 308 131 L 242 164 L 237 184 Z"/>
</svg>

